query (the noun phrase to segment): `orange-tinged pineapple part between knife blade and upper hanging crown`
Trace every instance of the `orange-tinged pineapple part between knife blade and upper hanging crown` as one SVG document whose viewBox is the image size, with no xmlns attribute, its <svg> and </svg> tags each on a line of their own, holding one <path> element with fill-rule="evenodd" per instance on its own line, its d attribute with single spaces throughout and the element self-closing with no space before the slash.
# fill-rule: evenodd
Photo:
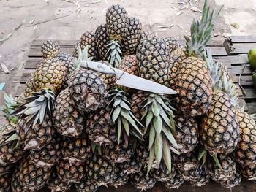
<svg viewBox="0 0 256 192">
<path fill-rule="evenodd" d="M 119 69 L 123 70 L 124 72 L 127 72 L 129 74 L 133 74 L 135 76 L 138 76 L 138 61 L 136 58 L 136 55 L 127 55 L 125 56 L 121 64 L 119 65 Z"/>
</svg>

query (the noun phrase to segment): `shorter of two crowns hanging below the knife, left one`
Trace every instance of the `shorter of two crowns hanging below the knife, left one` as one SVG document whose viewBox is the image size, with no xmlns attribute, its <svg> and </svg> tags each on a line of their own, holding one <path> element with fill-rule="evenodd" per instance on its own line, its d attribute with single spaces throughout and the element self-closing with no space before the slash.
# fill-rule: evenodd
<svg viewBox="0 0 256 192">
<path fill-rule="evenodd" d="M 121 132 L 123 132 L 124 141 L 128 144 L 129 134 L 143 140 L 143 134 L 138 126 L 143 127 L 140 121 L 135 118 L 130 108 L 130 101 L 127 99 L 127 93 L 119 89 L 110 92 L 110 103 L 108 107 L 110 112 L 110 123 L 117 124 L 117 141 L 121 142 Z"/>
</svg>

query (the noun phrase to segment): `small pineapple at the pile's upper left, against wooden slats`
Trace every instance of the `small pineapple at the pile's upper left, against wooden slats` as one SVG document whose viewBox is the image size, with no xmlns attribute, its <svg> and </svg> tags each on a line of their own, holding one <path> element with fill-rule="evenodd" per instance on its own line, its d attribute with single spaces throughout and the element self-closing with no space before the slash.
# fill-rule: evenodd
<svg viewBox="0 0 256 192">
<path fill-rule="evenodd" d="M 54 58 L 61 52 L 61 47 L 58 45 L 57 42 L 53 40 L 47 40 L 42 43 L 42 58 Z"/>
</svg>

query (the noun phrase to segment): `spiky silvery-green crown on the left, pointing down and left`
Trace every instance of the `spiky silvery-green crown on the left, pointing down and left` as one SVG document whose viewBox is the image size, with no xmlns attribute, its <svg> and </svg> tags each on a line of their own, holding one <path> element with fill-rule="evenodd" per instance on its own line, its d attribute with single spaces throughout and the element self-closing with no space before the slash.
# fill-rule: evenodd
<svg viewBox="0 0 256 192">
<path fill-rule="evenodd" d="M 32 93 L 32 96 L 24 99 L 24 104 L 21 104 L 10 115 L 17 115 L 19 118 L 26 118 L 26 131 L 31 127 L 45 120 L 46 116 L 52 115 L 56 95 L 53 91 L 42 89 L 39 92 Z"/>
</svg>

